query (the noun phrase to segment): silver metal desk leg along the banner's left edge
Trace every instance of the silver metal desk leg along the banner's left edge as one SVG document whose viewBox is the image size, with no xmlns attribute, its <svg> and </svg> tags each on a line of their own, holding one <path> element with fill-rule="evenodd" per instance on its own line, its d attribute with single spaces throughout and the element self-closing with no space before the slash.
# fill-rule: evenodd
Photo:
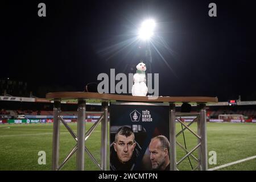
<svg viewBox="0 0 256 182">
<path fill-rule="evenodd" d="M 108 101 L 102 101 L 104 120 L 101 121 L 101 168 L 107 170 L 108 154 Z"/>
</svg>

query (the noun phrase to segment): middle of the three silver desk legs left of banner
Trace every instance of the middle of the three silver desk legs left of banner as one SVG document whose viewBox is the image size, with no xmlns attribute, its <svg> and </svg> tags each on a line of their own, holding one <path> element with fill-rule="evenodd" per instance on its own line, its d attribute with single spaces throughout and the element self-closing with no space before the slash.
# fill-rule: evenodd
<svg viewBox="0 0 256 182">
<path fill-rule="evenodd" d="M 85 100 L 79 98 L 77 108 L 77 154 L 76 168 L 84 170 L 84 147 L 85 147 Z"/>
</svg>

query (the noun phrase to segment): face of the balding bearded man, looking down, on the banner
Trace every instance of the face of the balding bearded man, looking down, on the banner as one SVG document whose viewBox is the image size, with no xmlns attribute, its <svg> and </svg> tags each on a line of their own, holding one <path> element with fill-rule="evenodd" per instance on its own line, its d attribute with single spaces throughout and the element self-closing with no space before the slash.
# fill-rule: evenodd
<svg viewBox="0 0 256 182">
<path fill-rule="evenodd" d="M 163 150 L 159 139 L 152 140 L 148 148 L 150 151 L 152 168 L 160 169 L 165 162 L 165 157 L 168 155 L 167 148 Z"/>
</svg>

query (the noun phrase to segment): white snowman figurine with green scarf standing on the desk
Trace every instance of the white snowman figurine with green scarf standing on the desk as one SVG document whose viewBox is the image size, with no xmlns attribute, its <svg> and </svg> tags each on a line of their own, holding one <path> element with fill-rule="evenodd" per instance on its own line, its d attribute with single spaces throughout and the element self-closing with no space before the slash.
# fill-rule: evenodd
<svg viewBox="0 0 256 182">
<path fill-rule="evenodd" d="M 146 65 L 141 61 L 137 66 L 137 72 L 133 76 L 133 87 L 131 88 L 131 94 L 133 96 L 146 96 Z"/>
</svg>

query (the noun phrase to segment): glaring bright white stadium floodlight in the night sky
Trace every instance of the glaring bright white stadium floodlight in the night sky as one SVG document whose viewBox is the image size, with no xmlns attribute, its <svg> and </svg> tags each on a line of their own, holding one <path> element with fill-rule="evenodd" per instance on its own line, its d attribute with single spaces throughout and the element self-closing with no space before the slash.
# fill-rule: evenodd
<svg viewBox="0 0 256 182">
<path fill-rule="evenodd" d="M 154 35 L 155 21 L 153 19 L 147 19 L 141 24 L 139 28 L 139 39 L 150 40 Z"/>
</svg>

